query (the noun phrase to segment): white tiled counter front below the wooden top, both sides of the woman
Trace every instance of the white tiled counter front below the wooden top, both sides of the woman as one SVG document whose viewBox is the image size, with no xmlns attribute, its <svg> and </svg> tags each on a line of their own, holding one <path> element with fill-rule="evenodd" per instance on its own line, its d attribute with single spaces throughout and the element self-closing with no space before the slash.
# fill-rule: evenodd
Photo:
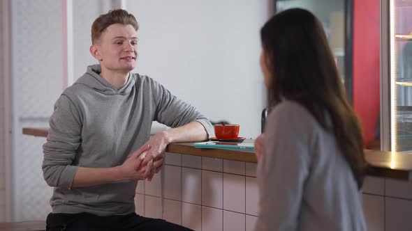
<svg viewBox="0 0 412 231">
<path fill-rule="evenodd" d="M 258 214 L 256 163 L 170 152 L 165 156 L 163 187 L 163 173 L 138 184 L 138 214 L 193 230 L 253 230 Z M 362 191 L 369 231 L 412 230 L 411 182 L 368 176 Z"/>
</svg>

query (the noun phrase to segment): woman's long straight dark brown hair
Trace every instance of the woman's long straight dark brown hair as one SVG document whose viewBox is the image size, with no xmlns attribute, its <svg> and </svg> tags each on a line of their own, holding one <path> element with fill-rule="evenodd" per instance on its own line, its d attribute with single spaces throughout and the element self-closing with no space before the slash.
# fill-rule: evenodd
<svg viewBox="0 0 412 231">
<path fill-rule="evenodd" d="M 360 189 L 366 166 L 362 130 L 346 98 L 321 22 L 307 10 L 285 10 L 266 22 L 260 38 L 265 65 L 272 75 L 267 91 L 269 108 L 282 98 L 304 106 L 334 134 Z"/>
</svg>

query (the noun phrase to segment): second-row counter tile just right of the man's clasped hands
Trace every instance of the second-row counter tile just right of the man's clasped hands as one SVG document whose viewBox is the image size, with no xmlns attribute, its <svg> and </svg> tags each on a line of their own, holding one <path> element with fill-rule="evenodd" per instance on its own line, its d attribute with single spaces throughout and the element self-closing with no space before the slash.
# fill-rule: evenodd
<svg viewBox="0 0 412 231">
<path fill-rule="evenodd" d="M 182 200 L 182 167 L 165 166 L 165 198 Z"/>
</svg>

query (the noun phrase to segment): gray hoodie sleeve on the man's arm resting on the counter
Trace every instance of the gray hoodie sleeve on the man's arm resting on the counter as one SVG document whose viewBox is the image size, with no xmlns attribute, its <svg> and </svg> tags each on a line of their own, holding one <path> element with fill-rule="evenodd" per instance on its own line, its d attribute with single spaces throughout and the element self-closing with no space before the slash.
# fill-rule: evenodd
<svg viewBox="0 0 412 231">
<path fill-rule="evenodd" d="M 194 106 L 172 95 L 164 86 L 152 80 L 152 93 L 156 100 L 154 120 L 169 127 L 180 127 L 192 121 L 200 122 L 209 137 L 214 135 L 212 124 Z"/>
</svg>

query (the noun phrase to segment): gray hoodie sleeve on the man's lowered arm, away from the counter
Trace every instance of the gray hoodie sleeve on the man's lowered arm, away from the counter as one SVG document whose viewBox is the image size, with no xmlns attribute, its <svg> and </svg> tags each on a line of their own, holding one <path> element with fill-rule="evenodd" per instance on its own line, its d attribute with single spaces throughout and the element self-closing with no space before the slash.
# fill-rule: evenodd
<svg viewBox="0 0 412 231">
<path fill-rule="evenodd" d="M 54 104 L 47 141 L 43 145 L 43 177 L 49 186 L 70 188 L 78 169 L 72 166 L 81 142 L 80 113 L 68 97 Z"/>
</svg>

